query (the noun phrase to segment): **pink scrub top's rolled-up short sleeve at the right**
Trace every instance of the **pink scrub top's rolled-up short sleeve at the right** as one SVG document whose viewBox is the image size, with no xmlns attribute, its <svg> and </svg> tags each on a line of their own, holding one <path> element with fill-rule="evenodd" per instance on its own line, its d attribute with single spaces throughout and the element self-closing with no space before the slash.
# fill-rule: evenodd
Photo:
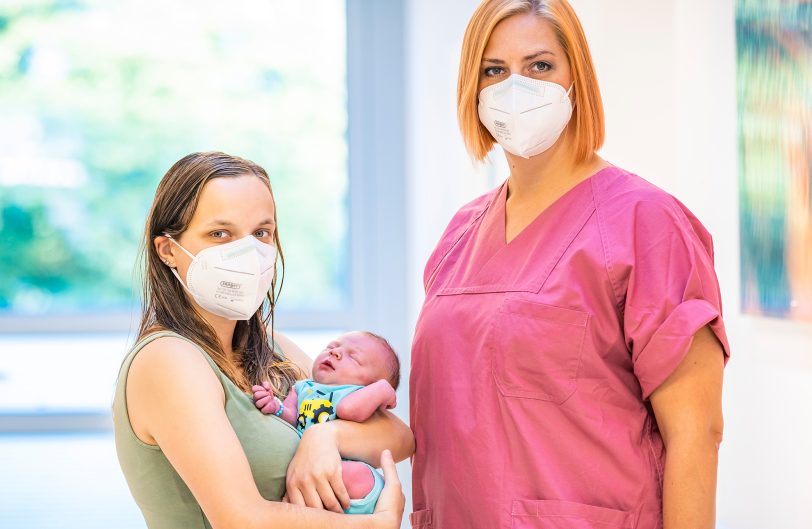
<svg viewBox="0 0 812 529">
<path fill-rule="evenodd" d="M 635 205 L 623 326 L 643 398 L 676 370 L 709 325 L 730 355 L 710 235 L 676 204 Z"/>
</svg>

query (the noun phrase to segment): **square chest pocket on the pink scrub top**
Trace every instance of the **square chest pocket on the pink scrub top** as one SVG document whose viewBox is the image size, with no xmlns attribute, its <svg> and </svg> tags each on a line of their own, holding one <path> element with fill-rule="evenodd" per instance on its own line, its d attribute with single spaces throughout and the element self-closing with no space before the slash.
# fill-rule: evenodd
<svg viewBox="0 0 812 529">
<path fill-rule="evenodd" d="M 589 314 L 507 298 L 491 326 L 492 370 L 505 397 L 556 404 L 577 386 Z"/>
</svg>

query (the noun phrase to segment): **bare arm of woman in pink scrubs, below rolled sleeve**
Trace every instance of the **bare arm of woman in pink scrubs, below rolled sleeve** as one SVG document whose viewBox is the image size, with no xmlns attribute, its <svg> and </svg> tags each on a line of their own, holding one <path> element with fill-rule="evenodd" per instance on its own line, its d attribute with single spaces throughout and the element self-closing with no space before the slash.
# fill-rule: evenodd
<svg viewBox="0 0 812 529">
<path fill-rule="evenodd" d="M 723 368 L 722 346 L 703 327 L 676 371 L 651 395 L 666 447 L 664 529 L 715 527 Z"/>
</svg>

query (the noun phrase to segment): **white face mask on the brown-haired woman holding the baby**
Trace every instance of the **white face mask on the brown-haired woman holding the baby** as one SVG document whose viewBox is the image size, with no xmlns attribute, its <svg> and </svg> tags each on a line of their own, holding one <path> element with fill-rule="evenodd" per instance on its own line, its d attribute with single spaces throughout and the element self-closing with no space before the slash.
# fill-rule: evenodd
<svg viewBox="0 0 812 529">
<path fill-rule="evenodd" d="M 198 305 L 229 320 L 247 320 L 256 313 L 273 282 L 276 246 L 248 235 L 192 255 L 165 235 L 192 258 L 186 284 L 177 270 L 172 273 Z"/>
</svg>

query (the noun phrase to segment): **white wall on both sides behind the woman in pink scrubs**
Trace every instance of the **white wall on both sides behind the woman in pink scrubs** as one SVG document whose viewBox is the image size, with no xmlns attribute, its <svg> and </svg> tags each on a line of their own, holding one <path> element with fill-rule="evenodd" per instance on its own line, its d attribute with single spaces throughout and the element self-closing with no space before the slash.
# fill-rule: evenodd
<svg viewBox="0 0 812 529">
<path fill-rule="evenodd" d="M 725 379 L 719 526 L 812 527 L 812 324 L 740 313 L 734 0 L 571 0 L 607 117 L 602 154 L 686 203 L 714 235 L 733 357 Z M 475 0 L 410 0 L 410 291 L 453 212 L 501 171 L 475 171 L 455 117 Z M 496 173 L 496 175 L 494 174 Z M 501 173 L 501 177 L 504 173 Z"/>
</svg>

